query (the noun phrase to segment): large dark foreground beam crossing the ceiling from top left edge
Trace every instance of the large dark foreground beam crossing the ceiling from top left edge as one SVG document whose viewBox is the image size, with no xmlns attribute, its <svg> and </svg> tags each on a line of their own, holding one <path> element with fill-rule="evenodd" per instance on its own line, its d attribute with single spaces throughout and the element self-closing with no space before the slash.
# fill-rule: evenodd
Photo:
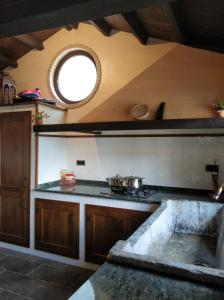
<svg viewBox="0 0 224 300">
<path fill-rule="evenodd" d="M 4 11 L 6 4 L 5 1 L 1 2 L 0 11 Z M 15 1 L 15 4 L 10 1 L 7 4 L 7 13 L 2 15 L 2 20 L 0 19 L 0 37 L 63 27 L 74 22 L 78 23 L 121 12 L 134 11 L 156 3 L 161 3 L 161 0 L 104 0 L 103 2 L 102 0 L 73 2 L 49 0 L 46 6 L 36 5 L 35 0 L 24 0 L 19 1 L 19 3 Z"/>
</svg>

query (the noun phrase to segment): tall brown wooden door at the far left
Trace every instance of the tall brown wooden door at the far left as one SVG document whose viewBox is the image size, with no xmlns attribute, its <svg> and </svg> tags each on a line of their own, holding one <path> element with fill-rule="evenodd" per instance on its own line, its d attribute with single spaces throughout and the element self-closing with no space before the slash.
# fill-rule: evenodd
<svg viewBox="0 0 224 300">
<path fill-rule="evenodd" d="M 31 112 L 0 114 L 0 240 L 29 246 Z"/>
</svg>

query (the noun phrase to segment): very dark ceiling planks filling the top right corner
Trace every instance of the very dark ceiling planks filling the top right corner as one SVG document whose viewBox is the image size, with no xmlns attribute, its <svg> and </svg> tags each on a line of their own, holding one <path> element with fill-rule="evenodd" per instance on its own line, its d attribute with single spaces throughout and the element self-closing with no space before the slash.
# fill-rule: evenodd
<svg viewBox="0 0 224 300">
<path fill-rule="evenodd" d="M 181 0 L 170 6 L 186 45 L 224 52 L 223 0 Z"/>
</svg>

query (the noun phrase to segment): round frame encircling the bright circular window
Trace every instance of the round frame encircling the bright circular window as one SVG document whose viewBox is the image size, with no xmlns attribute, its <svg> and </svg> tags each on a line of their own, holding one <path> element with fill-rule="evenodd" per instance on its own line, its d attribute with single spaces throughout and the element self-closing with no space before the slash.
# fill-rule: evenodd
<svg viewBox="0 0 224 300">
<path fill-rule="evenodd" d="M 91 61 L 94 63 L 96 68 L 96 83 L 92 90 L 92 92 L 85 97 L 82 100 L 79 101 L 71 101 L 69 99 L 66 99 L 60 92 L 58 88 L 58 75 L 61 70 L 61 67 L 63 64 L 70 59 L 71 57 L 75 55 L 84 55 L 91 59 Z M 95 54 L 93 50 L 86 46 L 73 46 L 65 49 L 64 51 L 60 52 L 56 58 L 53 60 L 53 63 L 51 64 L 50 71 L 49 71 L 49 83 L 50 83 L 50 90 L 53 94 L 53 96 L 60 101 L 60 104 L 63 104 L 63 106 L 67 108 L 76 108 L 85 105 L 88 103 L 93 96 L 96 94 L 99 84 L 101 81 L 101 65 L 99 58 Z"/>
</svg>

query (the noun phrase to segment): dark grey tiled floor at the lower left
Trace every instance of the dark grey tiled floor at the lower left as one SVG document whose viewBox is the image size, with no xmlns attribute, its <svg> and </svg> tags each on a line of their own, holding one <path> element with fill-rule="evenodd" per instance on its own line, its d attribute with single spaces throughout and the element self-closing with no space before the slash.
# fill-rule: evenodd
<svg viewBox="0 0 224 300">
<path fill-rule="evenodd" d="M 93 271 L 0 248 L 1 300 L 68 299 Z"/>
</svg>

